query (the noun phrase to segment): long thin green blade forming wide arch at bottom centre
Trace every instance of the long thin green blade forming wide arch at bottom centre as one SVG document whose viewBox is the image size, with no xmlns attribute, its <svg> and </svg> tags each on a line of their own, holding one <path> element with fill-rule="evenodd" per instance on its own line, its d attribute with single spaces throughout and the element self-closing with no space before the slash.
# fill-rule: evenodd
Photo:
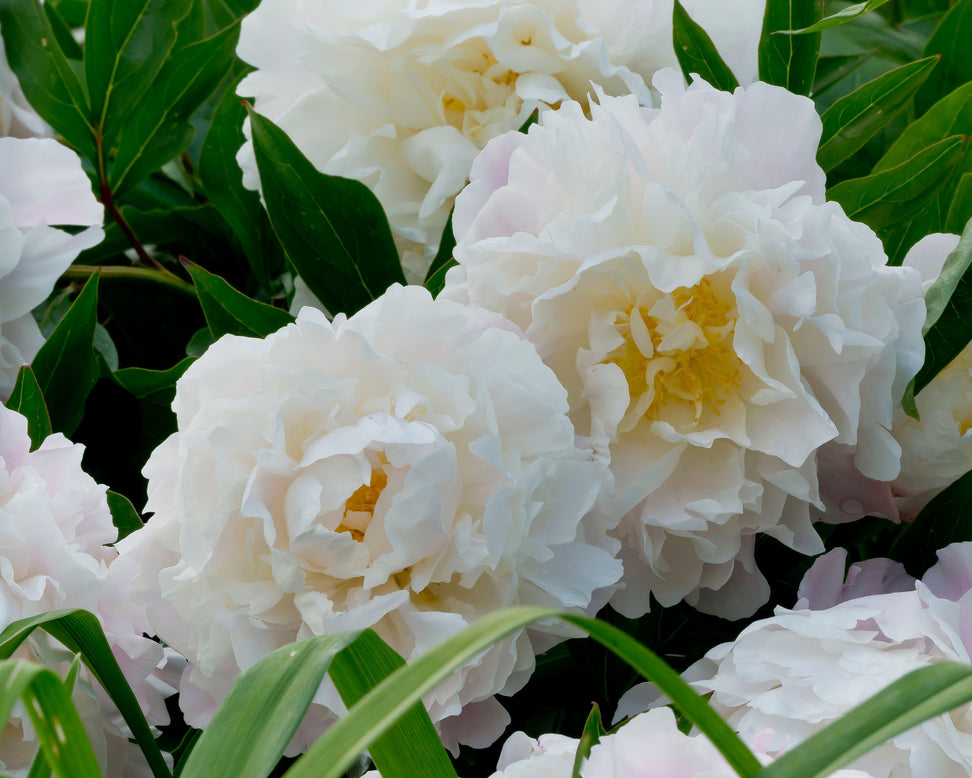
<svg viewBox="0 0 972 778">
<path fill-rule="evenodd" d="M 712 740 L 739 775 L 750 778 L 759 771 L 756 757 L 718 714 L 678 673 L 637 640 L 617 627 L 595 619 L 520 606 L 483 616 L 392 673 L 314 743 L 284 778 L 340 778 L 358 754 L 453 670 L 510 633 L 534 621 L 550 618 L 580 627 L 644 677 L 654 681 L 661 692 Z"/>
</svg>

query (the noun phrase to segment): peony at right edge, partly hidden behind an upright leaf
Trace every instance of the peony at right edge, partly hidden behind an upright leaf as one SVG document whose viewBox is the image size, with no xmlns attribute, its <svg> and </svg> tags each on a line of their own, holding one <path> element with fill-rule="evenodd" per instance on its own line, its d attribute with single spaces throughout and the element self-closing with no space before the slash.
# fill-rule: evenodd
<svg viewBox="0 0 972 778">
<path fill-rule="evenodd" d="M 927 288 L 938 278 L 958 235 L 922 238 L 905 257 Z M 965 349 L 915 397 L 921 420 L 895 414 L 901 475 L 891 484 L 902 518 L 913 519 L 953 481 L 972 470 L 972 346 Z"/>
</svg>

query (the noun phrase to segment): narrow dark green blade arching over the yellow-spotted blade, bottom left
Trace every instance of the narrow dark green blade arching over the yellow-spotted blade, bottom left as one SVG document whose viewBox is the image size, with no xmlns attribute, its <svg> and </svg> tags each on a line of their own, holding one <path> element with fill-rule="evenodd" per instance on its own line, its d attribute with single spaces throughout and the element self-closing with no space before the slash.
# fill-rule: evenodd
<svg viewBox="0 0 972 778">
<path fill-rule="evenodd" d="M 83 610 L 57 610 L 12 622 L 0 632 L 0 659 L 9 659 L 30 633 L 38 628 L 59 640 L 71 651 L 81 654 L 85 667 L 104 687 L 131 729 L 152 775 L 155 778 L 170 778 L 169 768 L 165 765 L 162 752 L 159 751 L 152 730 L 145 720 L 145 714 L 111 653 L 97 617 Z M 6 716 L 0 717 L 0 721 L 5 720 Z"/>
</svg>

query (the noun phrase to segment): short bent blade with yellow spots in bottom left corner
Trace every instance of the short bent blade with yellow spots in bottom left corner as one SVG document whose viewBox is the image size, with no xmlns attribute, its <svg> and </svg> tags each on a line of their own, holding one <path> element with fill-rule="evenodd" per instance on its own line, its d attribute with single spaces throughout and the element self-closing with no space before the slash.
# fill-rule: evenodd
<svg viewBox="0 0 972 778">
<path fill-rule="evenodd" d="M 91 742 L 60 678 L 34 662 L 0 662 L 0 722 L 10 718 L 20 698 L 58 778 L 101 778 Z"/>
</svg>

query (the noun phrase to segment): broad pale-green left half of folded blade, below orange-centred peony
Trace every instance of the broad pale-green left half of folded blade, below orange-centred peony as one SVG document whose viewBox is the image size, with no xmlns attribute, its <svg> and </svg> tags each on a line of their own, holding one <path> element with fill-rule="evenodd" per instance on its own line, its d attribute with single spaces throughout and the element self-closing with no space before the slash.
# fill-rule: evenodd
<svg viewBox="0 0 972 778">
<path fill-rule="evenodd" d="M 355 632 L 278 648 L 233 682 L 196 741 L 182 778 L 264 778 L 276 766 L 317 694 L 334 655 Z M 227 748 L 232 744 L 232 748 Z"/>
</svg>

